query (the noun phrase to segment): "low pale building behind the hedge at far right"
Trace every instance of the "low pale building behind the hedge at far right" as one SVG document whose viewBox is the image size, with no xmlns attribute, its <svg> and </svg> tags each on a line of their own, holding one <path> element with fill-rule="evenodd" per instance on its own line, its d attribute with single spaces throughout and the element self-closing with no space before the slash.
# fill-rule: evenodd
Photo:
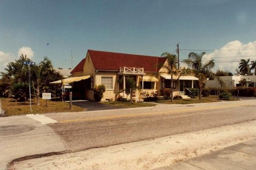
<svg viewBox="0 0 256 170">
<path fill-rule="evenodd" d="M 247 86 L 256 87 L 256 75 L 233 75 L 233 76 L 221 76 L 220 77 L 223 82 L 225 82 L 226 87 L 229 89 L 234 89 L 235 87 L 241 86 L 240 81 L 245 79 L 247 82 Z M 207 80 L 205 83 L 205 87 L 210 88 L 221 88 L 221 85 L 217 79 Z"/>
</svg>

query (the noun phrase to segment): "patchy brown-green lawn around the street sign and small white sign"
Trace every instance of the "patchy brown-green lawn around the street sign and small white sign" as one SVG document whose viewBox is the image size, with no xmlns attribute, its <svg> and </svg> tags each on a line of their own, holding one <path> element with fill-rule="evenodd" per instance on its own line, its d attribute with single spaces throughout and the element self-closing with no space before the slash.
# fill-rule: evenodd
<svg viewBox="0 0 256 170">
<path fill-rule="evenodd" d="M 40 105 L 36 105 L 36 100 L 31 99 L 32 112 L 30 112 L 29 101 L 17 102 L 11 98 L 1 98 L 2 109 L 8 116 L 11 115 L 22 115 L 22 114 L 42 114 L 42 113 L 53 113 L 53 112 L 81 112 L 84 108 L 72 105 L 72 109 L 69 109 L 69 103 L 62 101 L 51 101 L 43 100 L 40 98 Z"/>
</svg>

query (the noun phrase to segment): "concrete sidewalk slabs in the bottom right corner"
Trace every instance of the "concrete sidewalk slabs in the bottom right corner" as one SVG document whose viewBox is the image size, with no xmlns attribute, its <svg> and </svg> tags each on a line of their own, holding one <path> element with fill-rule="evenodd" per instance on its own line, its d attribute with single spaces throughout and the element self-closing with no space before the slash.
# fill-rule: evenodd
<svg viewBox="0 0 256 170">
<path fill-rule="evenodd" d="M 256 139 L 153 170 L 255 169 Z"/>
</svg>

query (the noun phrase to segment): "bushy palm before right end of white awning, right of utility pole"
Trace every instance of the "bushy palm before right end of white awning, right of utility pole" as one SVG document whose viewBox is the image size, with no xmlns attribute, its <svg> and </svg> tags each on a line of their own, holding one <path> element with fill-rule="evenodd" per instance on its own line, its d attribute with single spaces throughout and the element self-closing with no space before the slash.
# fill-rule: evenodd
<svg viewBox="0 0 256 170">
<path fill-rule="evenodd" d="M 198 84 L 199 84 L 199 99 L 201 99 L 202 89 L 206 82 L 207 75 L 211 72 L 211 69 L 214 67 L 215 63 L 214 60 L 211 59 L 203 64 L 202 58 L 205 55 L 205 52 L 202 52 L 201 54 L 197 54 L 194 52 L 191 52 L 188 54 L 188 59 L 184 60 L 191 69 L 193 69 L 195 77 L 198 78 Z"/>
</svg>

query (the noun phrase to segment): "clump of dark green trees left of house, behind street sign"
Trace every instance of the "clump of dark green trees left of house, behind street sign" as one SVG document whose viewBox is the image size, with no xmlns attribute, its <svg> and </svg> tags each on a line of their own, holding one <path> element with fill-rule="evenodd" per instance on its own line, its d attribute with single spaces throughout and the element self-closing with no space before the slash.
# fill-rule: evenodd
<svg viewBox="0 0 256 170">
<path fill-rule="evenodd" d="M 15 60 L 14 62 L 10 62 L 7 64 L 7 68 L 5 69 L 5 72 L 1 72 L 2 79 L 0 81 L 0 87 L 2 88 L 2 91 L 11 91 L 11 96 L 17 94 L 13 93 L 14 84 L 15 83 L 24 83 L 28 84 L 28 66 L 23 65 L 23 62 L 31 60 L 27 58 L 27 56 L 21 54 L 20 58 L 18 60 Z M 53 69 L 51 61 L 44 57 L 44 60 L 40 62 L 38 65 L 31 65 L 31 85 L 36 87 L 36 96 L 39 97 L 41 95 L 40 91 L 42 89 L 49 89 L 49 83 L 51 81 L 60 80 L 61 75 L 56 72 Z M 10 81 L 6 81 L 10 80 Z M 6 81 L 6 82 L 5 82 Z M 3 83 L 5 82 L 5 83 Z M 18 87 L 25 87 L 18 86 Z M 21 88 L 21 89 L 22 89 Z M 24 91 L 24 90 L 23 90 Z M 31 90 L 31 94 L 33 94 L 34 90 Z M 9 95 L 9 96 L 10 96 Z M 38 105 L 39 105 L 39 100 Z"/>
</svg>

